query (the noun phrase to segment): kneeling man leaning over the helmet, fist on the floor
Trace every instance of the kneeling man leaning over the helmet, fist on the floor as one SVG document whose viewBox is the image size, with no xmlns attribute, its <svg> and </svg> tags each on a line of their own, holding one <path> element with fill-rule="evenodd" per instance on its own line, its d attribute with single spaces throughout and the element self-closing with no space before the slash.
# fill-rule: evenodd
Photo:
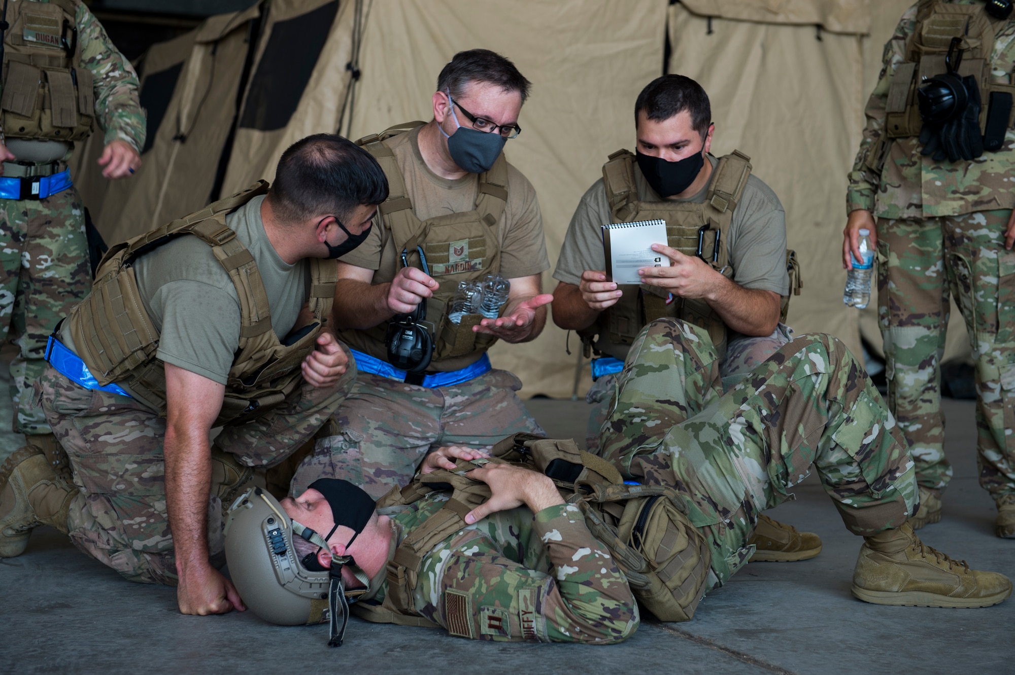
<svg viewBox="0 0 1015 675">
<path fill-rule="evenodd" d="M 321 134 L 283 153 L 270 189 L 111 248 L 36 384 L 74 485 L 32 446 L 15 452 L 0 467 L 0 556 L 44 523 L 131 581 L 179 585 L 184 613 L 243 609 L 215 570 L 219 501 L 347 393 L 329 258 L 362 241 L 387 196 L 368 153 Z"/>
</svg>

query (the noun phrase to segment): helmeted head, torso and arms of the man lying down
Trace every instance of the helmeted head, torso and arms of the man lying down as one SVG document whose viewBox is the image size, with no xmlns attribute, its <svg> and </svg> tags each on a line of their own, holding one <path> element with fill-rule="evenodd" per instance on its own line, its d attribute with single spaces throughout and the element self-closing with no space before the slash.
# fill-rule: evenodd
<svg viewBox="0 0 1015 675">
<path fill-rule="evenodd" d="M 479 450 L 444 447 L 426 456 L 420 471 L 454 469 L 450 458 L 483 456 Z M 375 510 L 373 498 L 360 488 L 320 478 L 295 499 L 282 500 L 290 521 L 274 498 L 252 489 L 236 500 L 226 525 L 230 576 L 262 618 L 317 623 L 329 597 L 319 591 L 329 588 L 329 576 L 314 573 L 337 560 L 341 580 L 332 577 L 330 588 L 332 598 L 339 596 L 330 607 L 333 646 L 341 645 L 348 613 L 342 596 L 357 601 L 353 610 L 361 616 L 368 605 L 365 618 L 370 620 L 439 625 L 476 640 L 605 645 L 633 633 L 637 606 L 623 573 L 553 481 L 511 464 L 468 466 L 469 477 L 488 484 L 491 496 L 463 514 L 464 522 L 455 516 L 462 527 L 438 535 L 437 543 L 418 557 L 407 610 L 405 598 L 392 606 L 387 597 L 408 588 L 393 586 L 389 560 L 415 557 L 406 539 L 451 513 L 447 493 Z"/>
</svg>

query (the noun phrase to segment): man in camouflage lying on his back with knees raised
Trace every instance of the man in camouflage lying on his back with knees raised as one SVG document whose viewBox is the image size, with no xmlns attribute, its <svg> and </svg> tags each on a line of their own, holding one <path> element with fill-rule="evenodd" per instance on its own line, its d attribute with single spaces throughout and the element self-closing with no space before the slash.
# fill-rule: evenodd
<svg viewBox="0 0 1015 675">
<path fill-rule="evenodd" d="M 1007 577 L 970 570 L 925 545 L 906 523 L 919 508 L 912 459 L 866 371 L 840 342 L 823 334 L 798 338 L 725 395 L 720 394 L 718 361 L 703 329 L 674 318 L 654 321 L 631 346 L 602 430 L 603 452 L 620 469 L 616 480 L 675 489 L 682 511 L 704 537 L 710 556 L 693 569 L 703 583 L 690 584 L 697 595 L 685 605 L 688 615 L 702 593 L 725 584 L 747 562 L 759 513 L 791 499 L 791 489 L 812 465 L 847 527 L 865 537 L 853 576 L 856 597 L 887 605 L 983 607 L 1011 594 Z M 444 448 L 427 457 L 423 471 L 461 472 L 462 462 L 454 464 L 449 457 L 475 462 L 468 453 Z M 586 466 L 592 468 L 589 461 Z M 334 480 L 319 480 L 283 502 L 292 520 L 314 530 L 303 535 L 307 541 L 291 534 L 289 540 L 304 565 L 327 568 L 333 557 L 341 561 L 339 595 L 360 602 L 387 600 L 393 570 L 407 570 L 408 582 L 394 588 L 408 589 L 409 598 L 396 601 L 396 609 L 408 609 L 422 617 L 420 624 L 433 622 L 452 634 L 605 644 L 632 632 L 638 618 L 633 594 L 622 583 L 626 571 L 614 567 L 619 556 L 605 553 L 603 541 L 578 517 L 581 511 L 564 505 L 547 476 L 503 465 L 476 468 L 468 476 L 488 483 L 492 493 L 468 513 L 447 508 L 447 495 L 437 493 L 399 507 L 391 517 L 385 509 L 379 515 L 367 502 L 358 525 L 348 512 L 366 499 L 361 491 L 351 483 L 332 490 Z M 269 499 L 264 495 L 264 501 Z M 461 514 L 455 516 L 456 511 Z M 459 518 L 461 527 L 441 530 L 452 534 L 407 556 L 403 542 L 438 515 Z M 273 521 L 256 524 L 261 522 Z M 302 526 L 293 525 L 292 534 L 300 534 Z M 298 584 L 288 595 L 277 593 L 284 584 L 267 553 L 259 583 L 252 582 L 254 567 L 232 569 L 233 560 L 254 558 L 250 550 L 265 551 L 264 535 L 248 527 L 229 537 L 251 546 L 230 557 L 241 592 L 246 586 L 264 600 L 268 588 L 276 592 L 268 603 L 291 602 Z M 636 545 L 633 538 L 629 544 Z M 248 577 L 247 583 L 240 577 Z M 264 603 L 255 611 L 293 623 L 308 622 L 310 613 L 314 622 L 311 603 L 304 600 L 297 608 L 296 620 L 279 620 L 278 610 L 265 610 Z M 323 605 L 316 616 L 322 611 Z M 537 620 L 527 621 L 526 611 L 535 611 Z M 337 612 L 332 602 L 332 617 Z M 412 622 L 393 616 L 374 620 L 379 618 Z M 332 627 L 334 638 L 339 634 L 334 618 Z"/>
</svg>

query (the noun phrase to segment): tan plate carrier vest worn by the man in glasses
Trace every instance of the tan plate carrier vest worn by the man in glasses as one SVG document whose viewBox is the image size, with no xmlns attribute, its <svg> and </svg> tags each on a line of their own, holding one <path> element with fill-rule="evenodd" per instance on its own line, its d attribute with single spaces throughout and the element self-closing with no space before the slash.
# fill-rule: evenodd
<svg viewBox="0 0 1015 675">
<path fill-rule="evenodd" d="M 384 226 L 391 230 L 396 260 L 405 250 L 410 264 L 413 259 L 418 261 L 416 246 L 421 246 L 430 276 L 439 284 L 433 297 L 426 300 L 425 320 L 435 339 L 433 361 L 469 355 L 474 355 L 472 360 L 475 361 L 492 347 L 496 338 L 473 332 L 472 326 L 483 318 L 481 314 L 465 314 L 457 324 L 452 323 L 448 314 L 459 282 L 478 281 L 500 271 L 497 223 L 507 204 L 507 160 L 501 153 L 489 171 L 479 174 L 476 204 L 472 211 L 420 221 L 412 209 L 402 170 L 386 141 L 423 124 L 410 122 L 398 125 L 381 134 L 361 138 L 356 143 L 374 155 L 388 178 L 390 194 L 388 200 L 381 204 L 380 213 Z M 388 251 L 382 254 L 388 254 Z M 389 321 L 385 321 L 363 330 L 342 330 L 339 338 L 349 347 L 386 361 L 388 324 Z"/>
</svg>

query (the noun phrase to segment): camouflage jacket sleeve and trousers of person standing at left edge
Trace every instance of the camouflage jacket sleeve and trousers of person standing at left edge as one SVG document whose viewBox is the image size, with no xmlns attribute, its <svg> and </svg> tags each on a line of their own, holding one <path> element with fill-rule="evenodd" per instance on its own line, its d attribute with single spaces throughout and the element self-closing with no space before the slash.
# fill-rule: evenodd
<svg viewBox="0 0 1015 675">
<path fill-rule="evenodd" d="M 83 4 L 77 5 L 76 22 L 81 63 L 94 77 L 95 116 L 106 143 L 126 141 L 140 152 L 145 114 L 137 74 Z M 30 389 L 46 365 L 46 339 L 91 287 L 87 251 L 76 189 L 42 200 L 0 201 L 0 341 L 8 333 L 20 335 L 20 353 L 10 365 L 17 432 L 50 433 Z"/>
</svg>

